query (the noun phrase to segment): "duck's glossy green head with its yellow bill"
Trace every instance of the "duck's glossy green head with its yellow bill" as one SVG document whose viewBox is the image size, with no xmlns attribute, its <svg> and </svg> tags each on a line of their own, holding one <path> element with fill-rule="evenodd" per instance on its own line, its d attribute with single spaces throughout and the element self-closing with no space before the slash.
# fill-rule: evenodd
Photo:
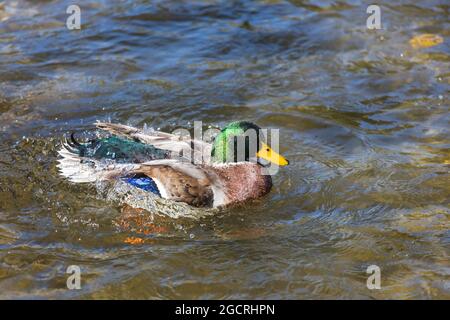
<svg viewBox="0 0 450 320">
<path fill-rule="evenodd" d="M 266 144 L 261 128 L 248 121 L 232 122 L 223 128 L 214 139 L 211 157 L 218 163 L 256 158 L 258 163 L 264 159 L 279 166 L 289 164 Z"/>
</svg>

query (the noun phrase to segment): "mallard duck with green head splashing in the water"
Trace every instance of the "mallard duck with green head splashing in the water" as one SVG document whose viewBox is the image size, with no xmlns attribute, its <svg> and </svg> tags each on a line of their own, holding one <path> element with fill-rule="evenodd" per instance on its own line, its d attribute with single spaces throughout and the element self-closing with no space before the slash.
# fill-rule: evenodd
<svg viewBox="0 0 450 320">
<path fill-rule="evenodd" d="M 216 208 L 267 194 L 272 179 L 263 174 L 263 161 L 267 161 L 265 165 L 288 164 L 262 135 L 260 138 L 260 128 L 247 121 L 230 123 L 212 144 L 122 124 L 95 125 L 109 134 L 84 143 L 72 134 L 59 150 L 60 173 L 72 182 L 121 181 L 131 189 L 140 189 L 141 196 Z M 243 136 L 249 129 L 258 133 L 257 152 L 252 157 L 246 143 L 245 159 L 237 161 L 229 141 L 236 141 L 234 137 Z M 196 161 L 186 160 L 186 150 Z M 257 161 L 250 161 L 255 158 Z"/>
</svg>

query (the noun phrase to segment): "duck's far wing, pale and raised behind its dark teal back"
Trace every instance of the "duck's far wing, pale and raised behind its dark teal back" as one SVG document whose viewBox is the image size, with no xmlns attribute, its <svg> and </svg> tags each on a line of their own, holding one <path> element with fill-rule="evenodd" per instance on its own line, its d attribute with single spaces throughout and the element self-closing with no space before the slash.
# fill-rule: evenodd
<svg viewBox="0 0 450 320">
<path fill-rule="evenodd" d="M 155 148 L 168 150 L 172 157 L 183 157 L 194 160 L 194 163 L 210 163 L 210 143 L 194 140 L 190 137 L 179 136 L 161 131 L 142 130 L 117 123 L 97 122 L 96 127 L 113 135 L 126 137 L 135 141 L 153 145 Z"/>
</svg>

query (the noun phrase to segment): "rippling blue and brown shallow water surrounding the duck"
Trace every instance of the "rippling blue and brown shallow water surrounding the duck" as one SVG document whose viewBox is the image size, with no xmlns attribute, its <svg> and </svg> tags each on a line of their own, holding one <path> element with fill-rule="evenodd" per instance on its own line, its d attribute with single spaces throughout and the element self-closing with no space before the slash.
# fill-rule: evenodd
<svg viewBox="0 0 450 320">
<path fill-rule="evenodd" d="M 378 31 L 357 0 L 89 0 L 69 31 L 72 3 L 0 9 L 0 298 L 450 298 L 448 1 L 386 1 Z M 291 165 L 261 201 L 158 217 L 58 176 L 62 137 L 108 119 L 251 120 Z"/>
</svg>

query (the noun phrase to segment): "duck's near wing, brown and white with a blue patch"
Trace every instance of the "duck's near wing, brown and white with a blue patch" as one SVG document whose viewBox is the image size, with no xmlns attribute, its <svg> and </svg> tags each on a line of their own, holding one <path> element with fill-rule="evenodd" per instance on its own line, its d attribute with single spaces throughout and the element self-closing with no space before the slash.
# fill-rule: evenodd
<svg viewBox="0 0 450 320">
<path fill-rule="evenodd" d="M 222 197 L 217 181 L 190 162 L 175 159 L 141 164 L 102 162 L 80 156 L 70 145 L 63 145 L 59 155 L 60 173 L 72 182 L 122 180 L 161 198 L 195 207 L 213 207 L 214 199 Z"/>
</svg>

